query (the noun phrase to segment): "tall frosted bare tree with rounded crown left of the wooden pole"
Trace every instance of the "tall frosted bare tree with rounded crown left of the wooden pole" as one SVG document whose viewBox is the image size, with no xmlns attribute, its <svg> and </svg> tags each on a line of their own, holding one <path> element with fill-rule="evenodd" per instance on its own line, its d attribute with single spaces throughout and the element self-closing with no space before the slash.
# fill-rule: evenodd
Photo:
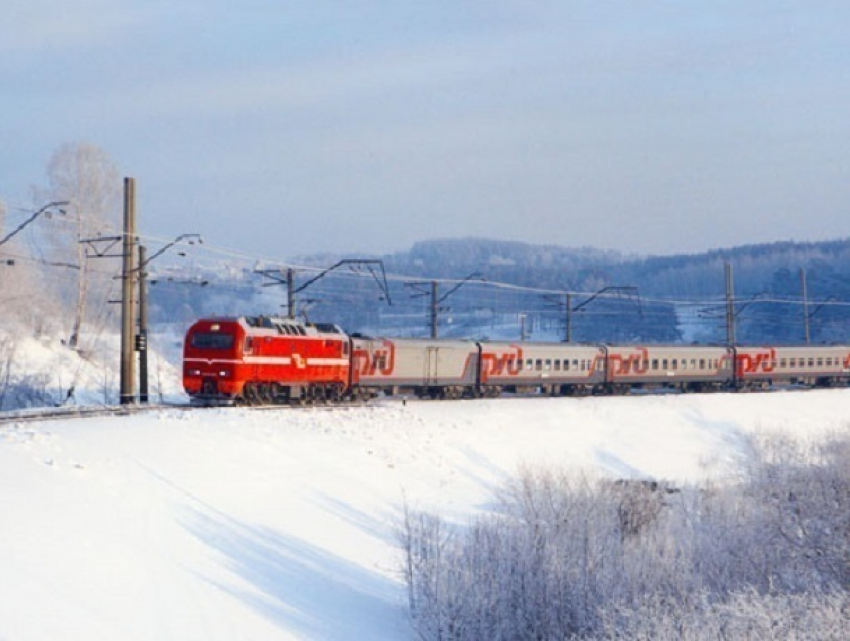
<svg viewBox="0 0 850 641">
<path fill-rule="evenodd" d="M 48 194 L 53 200 L 70 201 L 68 214 L 73 232 L 55 237 L 60 256 L 79 266 L 76 309 L 68 344 L 76 348 L 91 288 L 91 269 L 85 245 L 80 241 L 113 232 L 121 198 L 121 180 L 115 163 L 103 149 L 84 142 L 66 143 L 57 149 L 47 167 Z"/>
</svg>

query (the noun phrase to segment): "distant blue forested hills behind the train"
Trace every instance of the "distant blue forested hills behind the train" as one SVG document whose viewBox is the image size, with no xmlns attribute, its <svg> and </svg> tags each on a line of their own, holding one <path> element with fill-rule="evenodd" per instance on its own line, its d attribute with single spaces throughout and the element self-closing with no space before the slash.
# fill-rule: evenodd
<svg viewBox="0 0 850 641">
<path fill-rule="evenodd" d="M 327 267 L 352 257 L 366 258 L 322 254 L 293 262 Z M 430 289 L 422 281 L 454 280 L 440 285 L 441 336 L 515 338 L 527 330 L 525 335 L 535 340 L 561 340 L 569 324 L 576 341 L 716 342 L 725 340 L 724 265 L 729 263 L 740 341 L 803 339 L 801 269 L 812 302 L 812 339 L 850 340 L 850 305 L 841 304 L 850 303 L 850 239 L 672 256 L 482 238 L 435 239 L 408 251 L 368 258 L 380 258 L 392 276 L 389 297 L 376 286 L 378 274 L 372 278 L 361 270 L 360 278 L 352 278 L 351 270 L 340 270 L 299 294 L 299 313 L 338 322 L 351 331 L 426 335 Z M 250 271 L 238 277 L 232 271 L 211 274 L 210 287 L 203 292 L 187 297 L 183 291 L 175 293 L 174 301 L 161 297 L 156 302 L 172 319 L 231 309 L 285 313 L 283 288 L 264 288 L 254 282 L 258 278 Z M 306 275 L 299 276 L 299 283 L 306 280 Z M 569 323 L 565 296 L 556 292 L 572 292 L 575 314 Z M 604 295 L 595 297 L 598 292 Z M 175 304 L 179 314 L 170 309 Z"/>
</svg>

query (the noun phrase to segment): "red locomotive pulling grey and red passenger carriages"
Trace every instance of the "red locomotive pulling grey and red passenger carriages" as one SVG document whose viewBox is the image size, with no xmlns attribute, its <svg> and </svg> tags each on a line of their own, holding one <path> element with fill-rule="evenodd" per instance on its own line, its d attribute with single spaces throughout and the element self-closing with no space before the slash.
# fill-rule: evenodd
<svg viewBox="0 0 850 641">
<path fill-rule="evenodd" d="M 368 398 L 624 394 L 850 383 L 850 345 L 581 345 L 368 338 L 272 317 L 210 318 L 189 328 L 183 386 L 200 403 Z"/>
</svg>

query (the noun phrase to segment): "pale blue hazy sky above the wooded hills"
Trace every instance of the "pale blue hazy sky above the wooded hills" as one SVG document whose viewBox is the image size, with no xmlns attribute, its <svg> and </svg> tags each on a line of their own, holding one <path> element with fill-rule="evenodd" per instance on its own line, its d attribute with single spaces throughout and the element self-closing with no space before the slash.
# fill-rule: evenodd
<svg viewBox="0 0 850 641">
<path fill-rule="evenodd" d="M 267 258 L 850 236 L 850 4 L 4 0 L 0 200 L 100 146 Z M 119 218 L 120 220 L 120 213 Z"/>
</svg>

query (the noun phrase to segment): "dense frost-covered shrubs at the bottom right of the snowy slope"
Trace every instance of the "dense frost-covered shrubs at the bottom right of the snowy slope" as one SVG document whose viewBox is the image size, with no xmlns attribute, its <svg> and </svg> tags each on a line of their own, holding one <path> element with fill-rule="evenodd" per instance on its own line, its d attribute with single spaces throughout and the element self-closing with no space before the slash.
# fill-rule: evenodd
<svg viewBox="0 0 850 641">
<path fill-rule="evenodd" d="M 526 472 L 497 514 L 465 528 L 408 512 L 415 629 L 429 640 L 793 638 L 805 620 L 831 638 L 848 617 L 849 449 L 846 438 L 758 443 L 743 480 L 681 491 Z"/>
</svg>

